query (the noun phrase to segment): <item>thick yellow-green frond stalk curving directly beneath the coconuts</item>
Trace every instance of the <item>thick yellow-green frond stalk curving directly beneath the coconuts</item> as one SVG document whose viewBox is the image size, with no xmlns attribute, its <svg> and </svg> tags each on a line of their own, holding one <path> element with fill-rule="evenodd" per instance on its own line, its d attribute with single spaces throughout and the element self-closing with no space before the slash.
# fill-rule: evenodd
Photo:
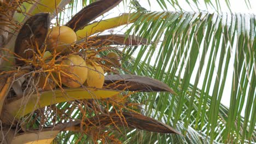
<svg viewBox="0 0 256 144">
<path fill-rule="evenodd" d="M 56 89 L 26 95 L 25 97 L 11 101 L 4 109 L 15 118 L 20 118 L 44 106 L 78 99 L 109 98 L 119 93 L 120 91 L 114 91 L 113 89 L 65 88 L 63 91 Z"/>
</svg>

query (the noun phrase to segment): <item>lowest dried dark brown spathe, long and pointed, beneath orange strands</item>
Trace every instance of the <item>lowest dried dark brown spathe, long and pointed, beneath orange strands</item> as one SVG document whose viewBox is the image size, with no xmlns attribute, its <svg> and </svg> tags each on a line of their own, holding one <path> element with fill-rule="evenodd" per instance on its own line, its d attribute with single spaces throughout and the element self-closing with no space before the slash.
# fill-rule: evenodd
<svg viewBox="0 0 256 144">
<path fill-rule="evenodd" d="M 48 127 L 47 129 L 79 131 L 81 128 L 80 124 L 81 123 L 79 121 L 60 123 L 56 124 L 54 127 Z M 180 134 L 169 125 L 159 122 L 153 118 L 143 116 L 139 113 L 132 112 L 122 112 L 119 113 L 119 115 L 115 112 L 101 114 L 89 118 L 83 122 L 83 124 L 86 125 L 86 127 L 118 125 L 119 127 L 136 128 L 156 133 Z M 46 128 L 44 130 L 46 130 Z"/>
</svg>

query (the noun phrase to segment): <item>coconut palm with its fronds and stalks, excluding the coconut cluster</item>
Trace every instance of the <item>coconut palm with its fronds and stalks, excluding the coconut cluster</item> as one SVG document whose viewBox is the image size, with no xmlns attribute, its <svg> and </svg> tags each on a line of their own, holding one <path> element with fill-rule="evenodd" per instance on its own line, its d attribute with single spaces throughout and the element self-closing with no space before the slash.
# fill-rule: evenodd
<svg viewBox="0 0 256 144">
<path fill-rule="evenodd" d="M 124 1 L 131 8 L 129 13 L 90 23 L 120 2 L 0 1 L 2 142 L 256 142 L 255 14 L 219 13 L 220 1 L 205 1 L 216 8 L 213 14 L 184 12 L 178 1 L 149 1 L 152 5 L 158 2 L 161 12 L 148 11 L 138 1 Z M 230 2 L 225 2 L 230 8 Z M 85 8 L 77 13 L 81 3 Z M 197 8 L 198 3 L 188 2 Z M 249 1 L 245 3 L 250 7 Z M 167 11 L 169 5 L 176 11 Z M 86 44 L 86 50 L 97 47 L 98 62 L 107 69 L 108 87 L 68 89 L 60 85 L 43 92 L 36 85 L 29 87 L 31 69 L 36 71 L 37 63 L 43 65 L 39 68 L 47 65 L 45 59 L 22 59 L 27 45 L 19 40 L 31 38 L 23 38 L 30 31 L 21 33 L 20 29 L 38 25 L 40 31 L 34 31 L 40 34 L 33 37 L 39 43 L 49 17 L 55 17 L 55 25 L 74 29 L 76 45 Z M 126 35 L 101 34 L 119 26 L 127 28 L 123 30 Z M 109 51 L 119 54 L 121 67 L 104 65 L 111 60 L 106 58 Z M 15 57 L 26 64 L 14 67 L 18 64 Z M 229 107 L 220 103 L 229 96 L 224 91 L 230 95 Z"/>
</svg>

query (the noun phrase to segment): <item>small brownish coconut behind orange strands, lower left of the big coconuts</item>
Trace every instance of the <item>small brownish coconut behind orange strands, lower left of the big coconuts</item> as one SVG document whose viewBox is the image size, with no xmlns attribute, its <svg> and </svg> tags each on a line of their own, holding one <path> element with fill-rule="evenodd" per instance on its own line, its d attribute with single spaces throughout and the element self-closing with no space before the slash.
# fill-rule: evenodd
<svg viewBox="0 0 256 144">
<path fill-rule="evenodd" d="M 42 88 L 45 91 L 54 89 L 56 87 L 56 83 L 52 79 L 50 79 L 50 77 L 48 77 L 48 79 L 46 80 L 46 77 L 44 75 L 39 75 L 37 77 L 37 80 L 39 80 L 37 86 L 39 88 Z M 44 84 L 45 84 L 45 87 L 44 87 Z"/>
</svg>

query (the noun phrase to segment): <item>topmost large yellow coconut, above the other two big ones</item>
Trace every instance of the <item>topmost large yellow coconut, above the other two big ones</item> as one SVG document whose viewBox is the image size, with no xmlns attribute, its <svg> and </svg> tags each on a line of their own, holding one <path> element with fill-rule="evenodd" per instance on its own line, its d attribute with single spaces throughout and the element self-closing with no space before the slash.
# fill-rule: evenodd
<svg viewBox="0 0 256 144">
<path fill-rule="evenodd" d="M 63 54 L 70 52 L 70 45 L 77 41 L 77 34 L 67 26 L 53 27 L 49 29 L 47 46 L 50 51 L 56 50 Z"/>
</svg>

